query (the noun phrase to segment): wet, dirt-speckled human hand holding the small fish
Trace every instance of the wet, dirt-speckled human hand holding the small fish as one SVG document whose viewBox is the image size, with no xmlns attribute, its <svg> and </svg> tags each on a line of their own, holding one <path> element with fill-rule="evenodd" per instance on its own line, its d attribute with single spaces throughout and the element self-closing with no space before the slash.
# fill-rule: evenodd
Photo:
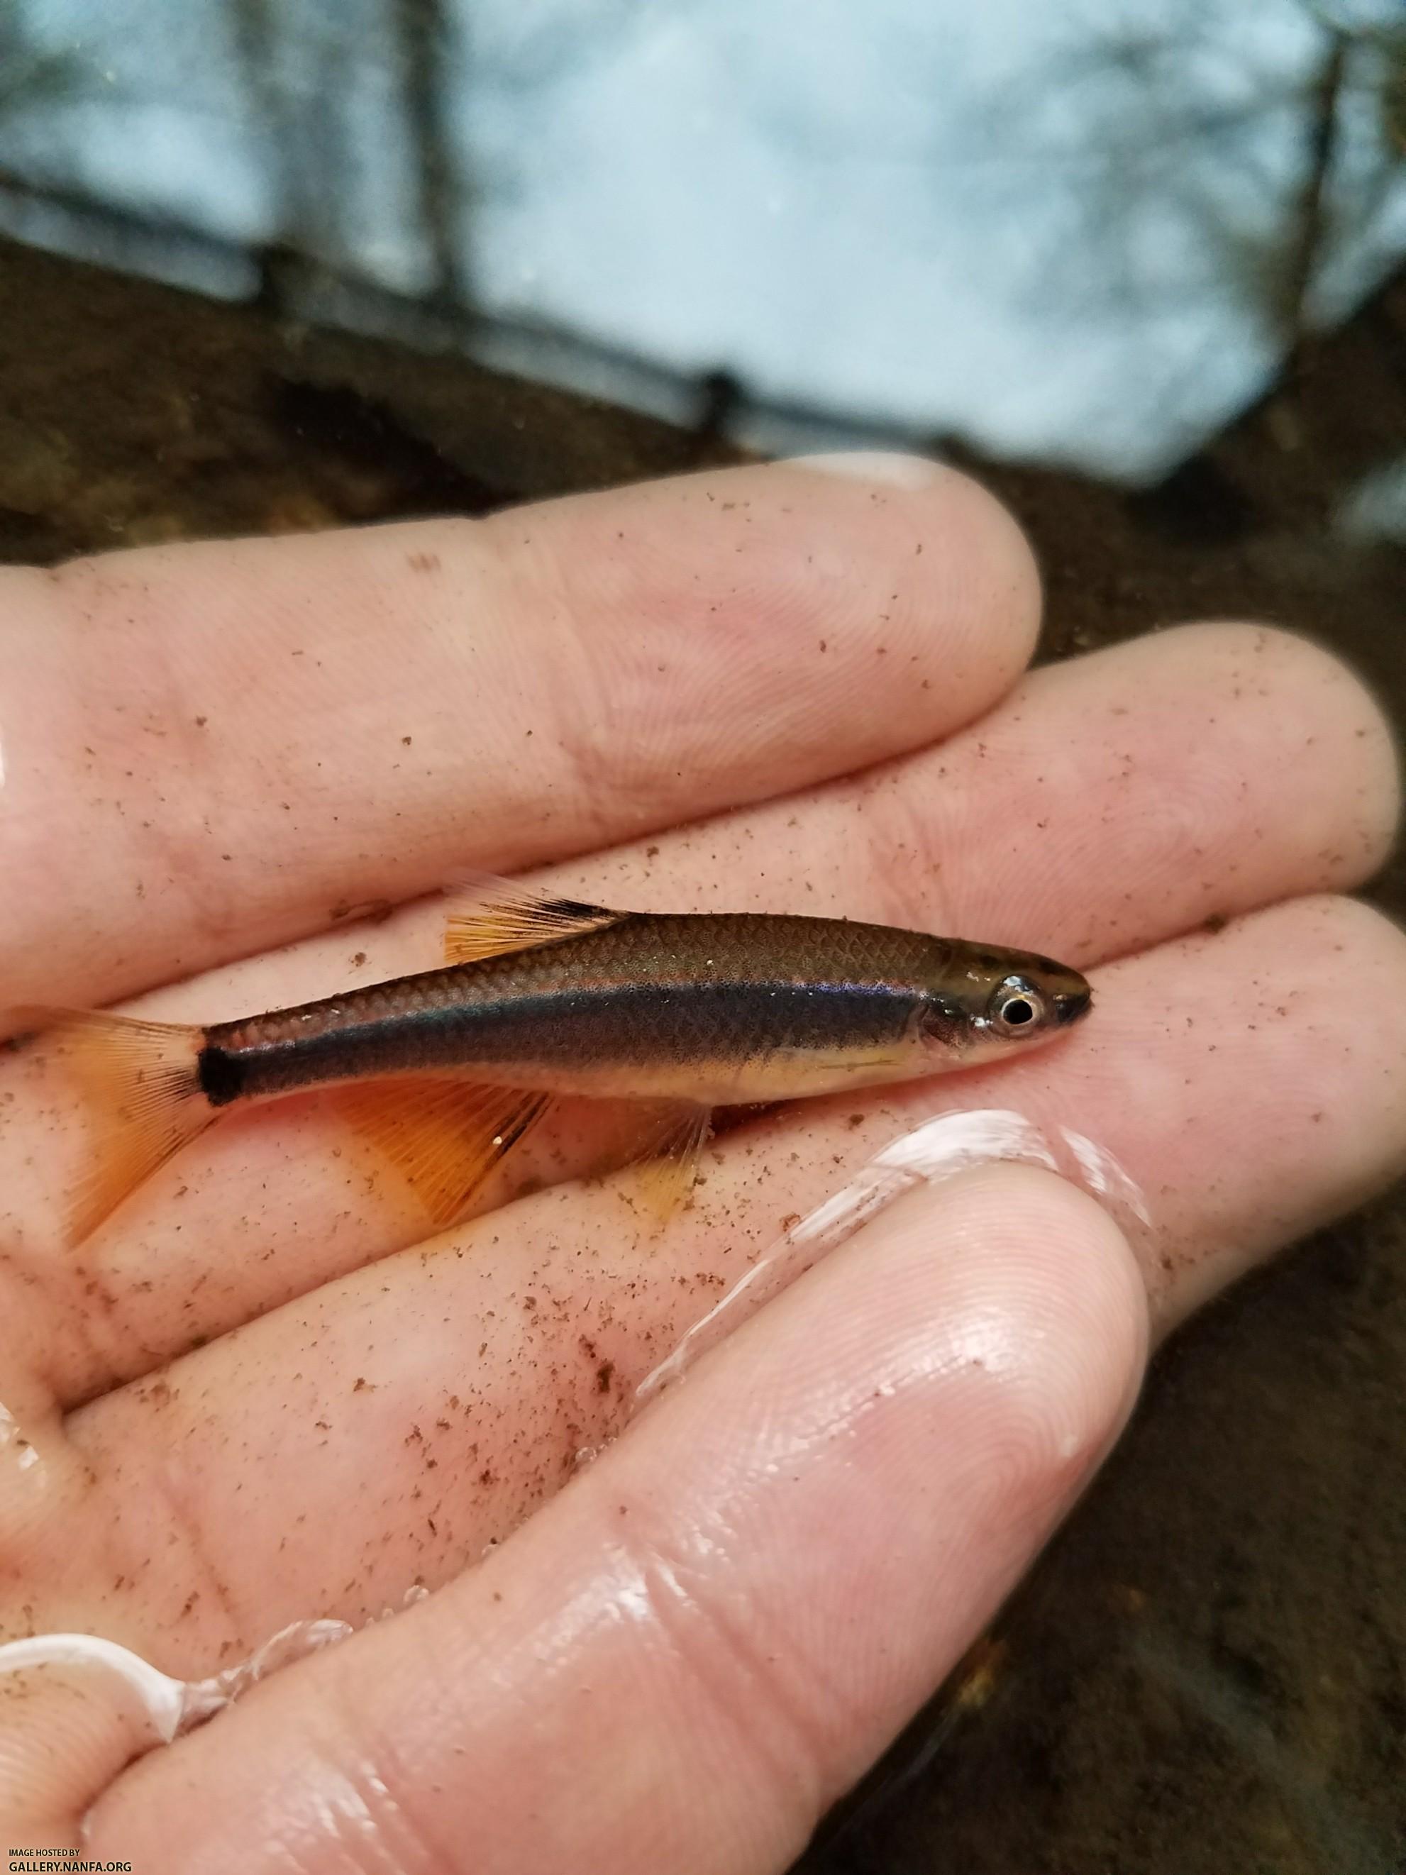
<svg viewBox="0 0 1406 1875">
<path fill-rule="evenodd" d="M 142 1875 L 784 1868 L 1067 1511 L 1149 1328 L 1399 1170 L 1406 947 L 1322 896 L 1395 823 L 1361 686 L 1256 626 L 1022 679 L 1001 510 L 851 471 L 0 576 L 6 1003 L 217 1020 L 427 968 L 433 904 L 337 926 L 549 859 L 1100 966 L 1039 1056 L 727 1134 L 658 1243 L 568 1181 L 422 1249 L 300 1101 L 69 1252 L 81 1119 L 4 1063 L 4 1637 L 197 1678 L 437 1590 L 133 1764 L 103 1674 L 0 1680 L 7 1841 L 86 1811 Z M 785 1219 L 954 1104 L 1076 1129 L 1151 1222 L 1029 1166 L 913 1192 L 559 1492 Z"/>
</svg>

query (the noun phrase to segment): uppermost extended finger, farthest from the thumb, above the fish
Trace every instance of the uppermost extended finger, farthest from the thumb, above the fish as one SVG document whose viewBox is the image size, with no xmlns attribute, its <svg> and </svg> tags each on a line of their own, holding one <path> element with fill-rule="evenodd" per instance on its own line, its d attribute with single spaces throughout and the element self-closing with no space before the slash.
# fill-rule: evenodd
<svg viewBox="0 0 1406 1875">
<path fill-rule="evenodd" d="M 6 1001 L 133 994 L 971 720 L 1033 645 L 1024 538 L 950 471 L 849 467 L 0 574 Z"/>
</svg>

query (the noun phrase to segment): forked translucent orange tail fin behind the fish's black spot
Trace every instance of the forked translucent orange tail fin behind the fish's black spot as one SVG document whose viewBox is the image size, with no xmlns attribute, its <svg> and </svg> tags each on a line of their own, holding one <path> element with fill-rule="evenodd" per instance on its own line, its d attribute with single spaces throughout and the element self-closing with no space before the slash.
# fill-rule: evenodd
<svg viewBox="0 0 1406 1875">
<path fill-rule="evenodd" d="M 92 1009 L 11 1009 L 15 1029 L 49 1031 L 92 1125 L 88 1168 L 69 1196 L 69 1241 L 81 1243 L 172 1153 L 216 1118 L 201 1089 L 204 1033 Z"/>
</svg>

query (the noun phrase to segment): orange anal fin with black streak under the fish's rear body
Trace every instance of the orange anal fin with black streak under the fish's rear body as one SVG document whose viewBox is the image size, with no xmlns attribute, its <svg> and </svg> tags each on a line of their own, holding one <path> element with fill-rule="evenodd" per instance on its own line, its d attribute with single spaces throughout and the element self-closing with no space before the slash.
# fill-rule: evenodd
<svg viewBox="0 0 1406 1875">
<path fill-rule="evenodd" d="M 448 1230 L 542 1119 L 551 1095 L 465 1080 L 394 1076 L 337 1089 L 337 1108 Z"/>
</svg>

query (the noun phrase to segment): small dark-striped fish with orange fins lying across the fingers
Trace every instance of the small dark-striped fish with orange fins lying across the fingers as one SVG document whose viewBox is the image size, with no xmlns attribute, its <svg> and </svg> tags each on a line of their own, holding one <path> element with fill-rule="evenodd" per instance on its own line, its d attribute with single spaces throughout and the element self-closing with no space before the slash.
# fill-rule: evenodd
<svg viewBox="0 0 1406 1875">
<path fill-rule="evenodd" d="M 611 911 L 480 876 L 444 968 L 193 1028 L 11 1011 L 58 1029 L 99 1121 L 73 1241 L 219 1114 L 339 1088 L 347 1118 L 448 1226 L 553 1099 L 626 1101 L 671 1209 L 716 1106 L 917 1080 L 1048 1041 L 1089 984 L 1046 956 L 887 924 Z"/>
</svg>

